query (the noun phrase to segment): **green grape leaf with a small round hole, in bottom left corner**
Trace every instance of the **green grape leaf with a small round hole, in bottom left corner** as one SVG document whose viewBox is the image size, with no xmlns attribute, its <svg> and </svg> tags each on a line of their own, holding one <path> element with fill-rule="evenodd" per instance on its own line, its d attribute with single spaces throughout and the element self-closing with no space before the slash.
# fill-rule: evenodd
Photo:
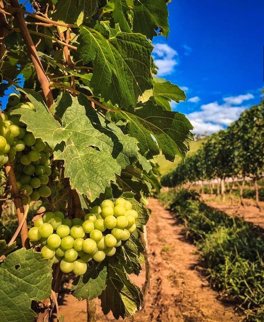
<svg viewBox="0 0 264 322">
<path fill-rule="evenodd" d="M 51 295 L 52 261 L 33 250 L 19 249 L 0 266 L 0 321 L 30 322 L 35 312 L 31 301 Z"/>
</svg>

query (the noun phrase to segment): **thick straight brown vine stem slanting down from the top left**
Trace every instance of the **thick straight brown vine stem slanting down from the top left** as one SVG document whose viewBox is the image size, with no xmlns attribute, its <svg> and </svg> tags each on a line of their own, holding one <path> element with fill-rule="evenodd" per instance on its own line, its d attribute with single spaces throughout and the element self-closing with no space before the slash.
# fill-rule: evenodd
<svg viewBox="0 0 264 322">
<path fill-rule="evenodd" d="M 45 71 L 42 67 L 41 61 L 39 59 L 37 50 L 34 46 L 34 43 L 32 41 L 32 38 L 30 36 L 30 33 L 27 29 L 27 26 L 24 21 L 24 16 L 23 13 L 20 12 L 20 6 L 17 0 L 10 0 L 10 4 L 14 9 L 18 9 L 16 12 L 14 12 L 14 20 L 19 26 L 20 33 L 22 35 L 22 38 L 24 39 L 24 42 L 27 46 L 28 52 L 30 54 L 31 60 L 33 62 L 33 65 L 35 67 L 38 81 L 41 85 L 45 100 L 47 102 L 47 106 L 49 109 L 52 108 L 52 105 L 55 103 L 53 96 L 52 96 L 52 91 L 50 88 L 50 82 L 48 80 L 47 75 L 45 74 Z"/>
</svg>

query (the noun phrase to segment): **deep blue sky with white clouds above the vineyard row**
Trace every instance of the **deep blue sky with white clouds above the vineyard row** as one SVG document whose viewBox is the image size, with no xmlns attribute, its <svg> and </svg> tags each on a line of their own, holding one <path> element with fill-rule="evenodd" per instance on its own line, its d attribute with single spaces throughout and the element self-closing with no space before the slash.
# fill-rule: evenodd
<svg viewBox="0 0 264 322">
<path fill-rule="evenodd" d="M 158 76 L 186 90 L 173 109 L 194 133 L 226 128 L 261 99 L 264 2 L 179 1 L 168 4 L 168 41 L 153 41 Z"/>
</svg>

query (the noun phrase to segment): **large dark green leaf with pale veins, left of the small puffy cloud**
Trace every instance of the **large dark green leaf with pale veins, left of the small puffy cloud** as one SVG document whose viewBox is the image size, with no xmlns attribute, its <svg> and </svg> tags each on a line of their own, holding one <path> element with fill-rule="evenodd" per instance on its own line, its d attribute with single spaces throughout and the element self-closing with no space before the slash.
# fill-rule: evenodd
<svg viewBox="0 0 264 322">
<path fill-rule="evenodd" d="M 95 95 L 127 108 L 134 107 L 144 92 L 152 89 L 153 46 L 145 36 L 118 32 L 107 39 L 95 29 L 85 27 L 80 29 L 78 41 L 83 62 L 94 62 L 91 86 Z"/>
</svg>

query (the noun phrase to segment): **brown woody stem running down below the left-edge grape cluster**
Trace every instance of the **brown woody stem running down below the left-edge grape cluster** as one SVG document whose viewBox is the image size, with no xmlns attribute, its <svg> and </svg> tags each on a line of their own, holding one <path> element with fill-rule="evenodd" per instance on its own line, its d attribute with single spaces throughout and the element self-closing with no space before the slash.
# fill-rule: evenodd
<svg viewBox="0 0 264 322">
<path fill-rule="evenodd" d="M 7 180 L 9 182 L 10 190 L 11 190 L 11 197 L 14 201 L 15 207 L 16 207 L 16 213 L 18 217 L 19 224 L 22 223 L 21 228 L 21 240 L 22 240 L 22 246 L 26 249 L 30 248 L 28 234 L 27 234 L 27 223 L 26 221 L 23 222 L 24 219 L 24 206 L 22 202 L 22 198 L 16 183 L 15 174 L 13 170 L 13 166 L 10 161 L 8 161 L 5 164 L 5 173 L 7 176 Z"/>
</svg>

